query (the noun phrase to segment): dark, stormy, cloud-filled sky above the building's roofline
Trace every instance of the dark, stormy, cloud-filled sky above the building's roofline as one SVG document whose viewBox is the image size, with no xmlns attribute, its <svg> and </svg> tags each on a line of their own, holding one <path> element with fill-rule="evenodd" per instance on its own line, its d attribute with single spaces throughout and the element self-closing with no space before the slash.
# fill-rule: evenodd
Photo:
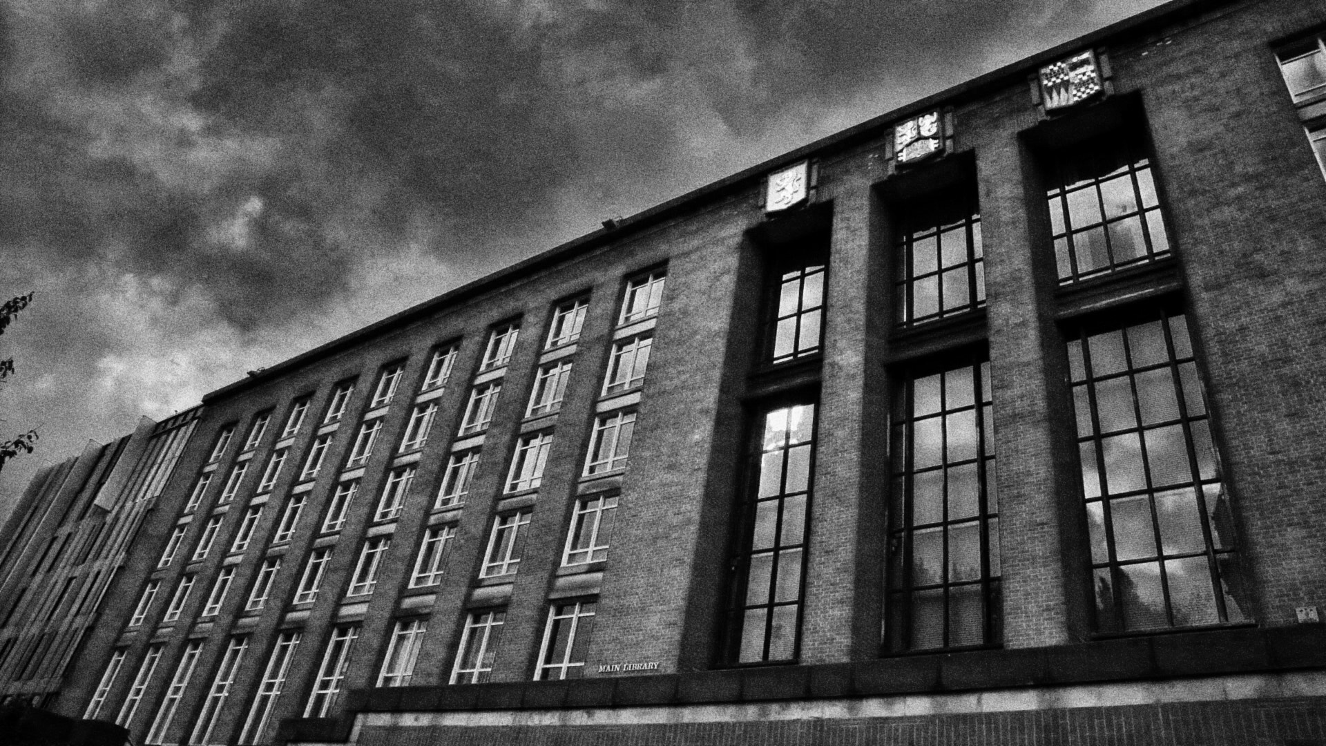
<svg viewBox="0 0 1326 746">
<path fill-rule="evenodd" d="M 1156 0 L 0 0 L 44 462 Z"/>
</svg>

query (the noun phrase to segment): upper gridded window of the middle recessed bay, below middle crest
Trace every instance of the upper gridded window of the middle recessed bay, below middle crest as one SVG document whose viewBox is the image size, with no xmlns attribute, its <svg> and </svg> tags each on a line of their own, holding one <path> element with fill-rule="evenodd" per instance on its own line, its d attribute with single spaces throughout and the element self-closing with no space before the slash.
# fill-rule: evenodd
<svg viewBox="0 0 1326 746">
<path fill-rule="evenodd" d="M 985 259 L 975 190 L 940 191 L 896 211 L 898 324 L 985 305 Z"/>
</svg>

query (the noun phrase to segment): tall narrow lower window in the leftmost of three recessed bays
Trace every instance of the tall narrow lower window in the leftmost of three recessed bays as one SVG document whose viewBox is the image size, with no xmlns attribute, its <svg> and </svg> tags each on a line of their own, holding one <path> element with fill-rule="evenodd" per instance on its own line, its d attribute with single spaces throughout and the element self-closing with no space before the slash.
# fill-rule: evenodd
<svg viewBox="0 0 1326 746">
<path fill-rule="evenodd" d="M 780 406 L 756 421 L 732 563 L 733 664 L 793 661 L 800 654 L 815 410 L 813 404 Z"/>
</svg>

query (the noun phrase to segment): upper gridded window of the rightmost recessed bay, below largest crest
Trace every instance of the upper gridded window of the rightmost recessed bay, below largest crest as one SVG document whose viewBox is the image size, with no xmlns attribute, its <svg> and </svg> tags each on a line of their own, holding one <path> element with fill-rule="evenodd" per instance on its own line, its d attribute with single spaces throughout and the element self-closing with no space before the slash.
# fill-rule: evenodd
<svg viewBox="0 0 1326 746">
<path fill-rule="evenodd" d="M 1046 175 L 1061 284 L 1170 252 L 1151 159 L 1135 139 L 1054 153 Z"/>
</svg>

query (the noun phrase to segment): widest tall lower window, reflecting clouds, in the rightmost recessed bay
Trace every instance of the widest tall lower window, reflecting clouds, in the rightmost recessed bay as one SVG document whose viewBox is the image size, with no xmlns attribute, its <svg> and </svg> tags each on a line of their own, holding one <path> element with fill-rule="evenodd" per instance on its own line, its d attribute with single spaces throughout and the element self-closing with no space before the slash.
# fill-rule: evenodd
<svg viewBox="0 0 1326 746">
<path fill-rule="evenodd" d="M 1069 369 L 1098 629 L 1246 621 L 1233 511 L 1184 315 L 1081 328 Z"/>
</svg>

